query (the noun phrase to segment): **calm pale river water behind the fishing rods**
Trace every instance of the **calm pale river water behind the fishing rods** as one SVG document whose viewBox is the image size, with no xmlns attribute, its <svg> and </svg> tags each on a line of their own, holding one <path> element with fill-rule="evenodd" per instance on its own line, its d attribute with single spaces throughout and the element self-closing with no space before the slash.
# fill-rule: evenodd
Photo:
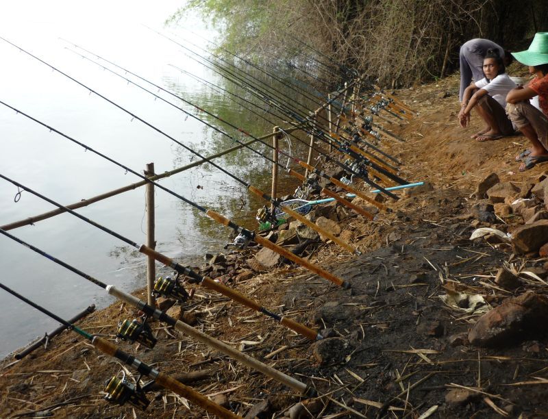
<svg viewBox="0 0 548 419">
<path fill-rule="evenodd" d="M 99 66 L 72 53 L 70 40 L 123 65 L 190 101 L 241 124 L 256 136 L 272 126 L 250 116 L 234 103 L 169 64 L 222 83 L 219 76 L 193 62 L 177 45 L 145 25 L 207 47 L 192 36 L 218 36 L 196 16 L 179 27 L 163 22 L 182 1 L 27 1 L 0 3 L 0 36 L 49 62 L 86 86 L 127 108 L 170 136 L 209 155 L 234 146 L 202 123 L 155 100 Z M 138 120 L 110 105 L 29 55 L 0 40 L 0 101 L 88 144 L 129 168 L 142 172 L 154 162 L 162 173 L 192 162 L 188 151 Z M 151 88 L 157 91 L 155 88 Z M 158 93 L 160 94 L 160 93 Z M 162 95 L 169 98 L 167 95 Z M 177 103 L 195 114 L 184 103 Z M 198 114 L 203 117 L 204 115 Z M 234 131 L 231 131 L 231 134 Z M 238 134 L 240 138 L 240 134 Z M 0 173 L 63 204 L 77 202 L 140 181 L 136 176 L 50 132 L 0 105 Z M 295 147 L 295 146 L 294 146 Z M 264 147 L 259 147 L 271 153 Z M 270 164 L 242 150 L 216 160 L 218 164 L 269 190 Z M 294 184 L 282 175 L 282 188 Z M 256 227 L 254 214 L 262 203 L 218 170 L 202 165 L 161 181 L 163 186 L 206 207 Z M 0 225 L 53 210 L 53 205 L 0 181 Z M 145 242 L 145 188 L 138 188 L 82 210 L 88 216 L 134 242 Z M 161 190 L 155 193 L 157 250 L 196 266 L 203 253 L 221 251 L 230 231 Z M 133 290 L 144 285 L 145 258 L 136 249 L 71 214 L 62 214 L 10 231 L 14 236 L 62 259 L 105 283 Z M 54 264 L 10 238 L 0 236 L 0 281 L 65 318 L 91 303 L 112 303 L 97 285 Z M 141 279 L 137 279 L 137 278 Z M 57 327 L 57 323 L 6 292 L 0 292 L 0 357 Z"/>
</svg>

